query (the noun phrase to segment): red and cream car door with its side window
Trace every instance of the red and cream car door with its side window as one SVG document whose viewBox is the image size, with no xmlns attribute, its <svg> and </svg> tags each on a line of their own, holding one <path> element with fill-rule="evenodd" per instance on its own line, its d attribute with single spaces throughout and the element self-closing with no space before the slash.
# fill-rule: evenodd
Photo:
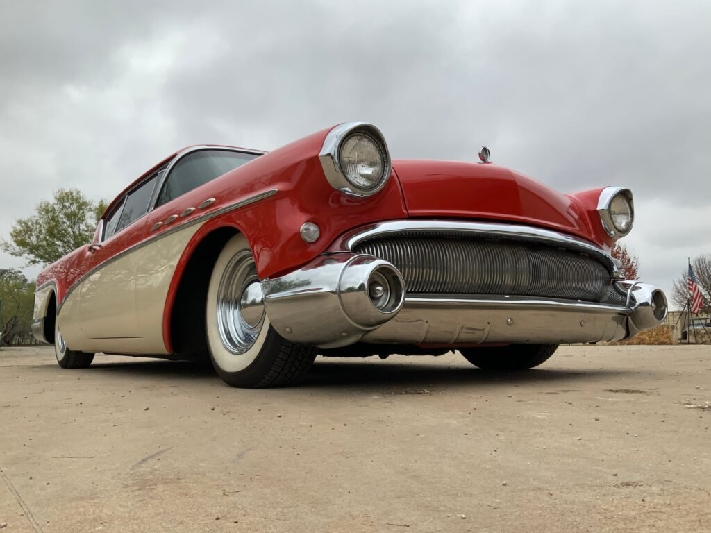
<svg viewBox="0 0 711 533">
<path fill-rule="evenodd" d="M 88 258 L 88 275 L 80 287 L 79 316 L 87 340 L 142 336 L 134 296 L 137 253 L 146 238 L 145 215 L 163 172 L 161 169 L 126 193 L 105 218 L 100 243 Z M 112 343 L 113 351 L 116 346 Z M 118 346 L 120 349 L 121 343 Z"/>
</svg>

